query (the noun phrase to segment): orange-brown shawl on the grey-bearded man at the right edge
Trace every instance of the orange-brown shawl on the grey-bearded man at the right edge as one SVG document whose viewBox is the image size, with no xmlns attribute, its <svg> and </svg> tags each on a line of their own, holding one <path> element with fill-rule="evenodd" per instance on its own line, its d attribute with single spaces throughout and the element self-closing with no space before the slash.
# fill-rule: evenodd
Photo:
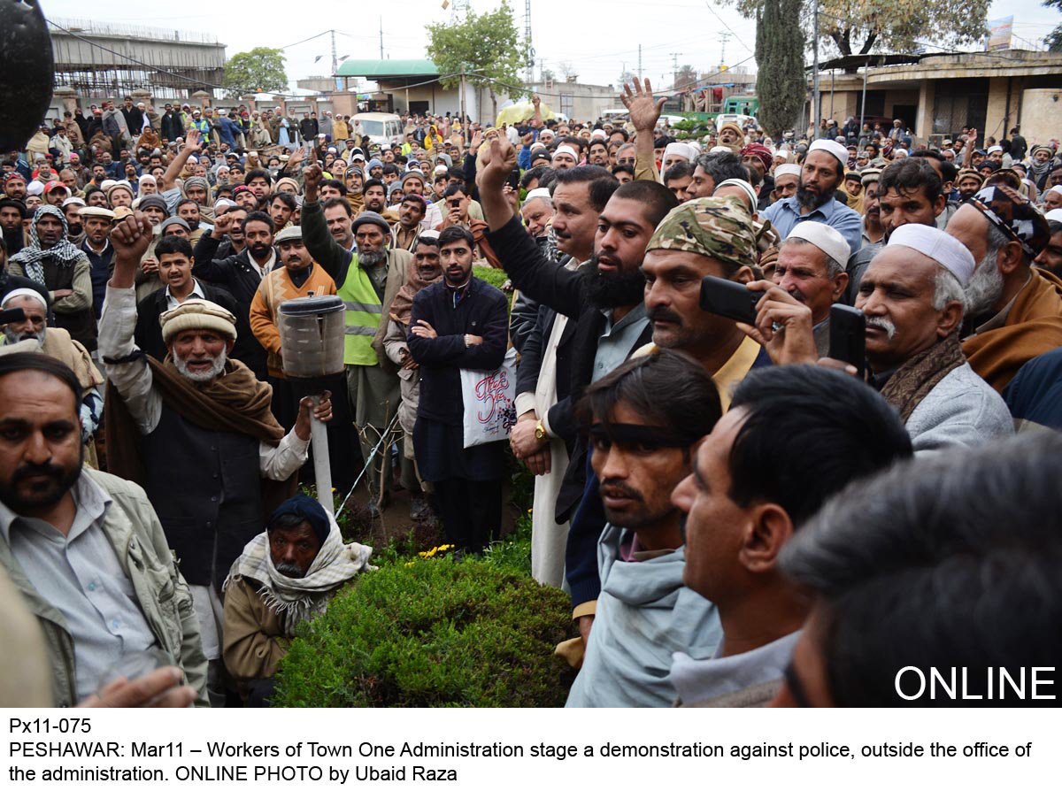
<svg viewBox="0 0 1062 791">
<path fill-rule="evenodd" d="M 1003 392 L 1033 357 L 1062 346 L 1062 280 L 1032 269 L 1003 327 L 967 338 L 962 350 L 977 375 Z"/>
</svg>

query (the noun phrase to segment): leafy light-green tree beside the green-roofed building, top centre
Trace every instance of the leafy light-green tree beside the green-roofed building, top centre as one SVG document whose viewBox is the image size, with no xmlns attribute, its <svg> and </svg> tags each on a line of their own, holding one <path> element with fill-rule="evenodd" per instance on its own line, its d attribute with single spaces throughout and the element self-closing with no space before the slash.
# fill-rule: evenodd
<svg viewBox="0 0 1062 791">
<path fill-rule="evenodd" d="M 427 29 L 431 38 L 428 57 L 444 75 L 439 81 L 444 88 L 458 85 L 464 72 L 473 86 L 490 90 L 495 116 L 496 87 L 514 100 L 526 92 L 520 70 L 528 62 L 527 45 L 516 32 L 508 0 L 486 14 L 469 11 L 462 21 L 429 24 Z"/>
</svg>

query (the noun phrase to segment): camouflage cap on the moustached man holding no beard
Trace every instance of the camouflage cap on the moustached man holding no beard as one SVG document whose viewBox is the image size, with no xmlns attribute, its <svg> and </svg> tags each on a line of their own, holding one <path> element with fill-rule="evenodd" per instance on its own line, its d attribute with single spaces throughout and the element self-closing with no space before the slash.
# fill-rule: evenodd
<svg viewBox="0 0 1062 791">
<path fill-rule="evenodd" d="M 754 266 L 756 231 L 737 195 L 698 197 L 668 212 L 646 245 L 650 250 L 681 250 L 736 268 Z"/>
</svg>

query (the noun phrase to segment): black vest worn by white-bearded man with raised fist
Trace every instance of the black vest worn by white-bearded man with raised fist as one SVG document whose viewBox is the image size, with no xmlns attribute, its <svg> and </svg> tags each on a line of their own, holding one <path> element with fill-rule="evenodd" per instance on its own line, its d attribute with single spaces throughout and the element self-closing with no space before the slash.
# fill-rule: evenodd
<svg viewBox="0 0 1062 791">
<path fill-rule="evenodd" d="M 208 431 L 162 407 L 143 437 L 148 497 L 190 585 L 222 583 L 266 529 L 258 440 Z"/>
</svg>

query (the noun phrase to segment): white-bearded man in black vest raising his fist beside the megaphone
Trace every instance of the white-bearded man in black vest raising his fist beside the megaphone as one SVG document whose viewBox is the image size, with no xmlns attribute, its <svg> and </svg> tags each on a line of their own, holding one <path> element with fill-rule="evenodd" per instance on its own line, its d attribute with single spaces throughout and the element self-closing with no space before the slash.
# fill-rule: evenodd
<svg viewBox="0 0 1062 791">
<path fill-rule="evenodd" d="M 310 398 L 285 434 L 270 411 L 271 389 L 229 359 L 236 317 L 220 305 L 188 299 L 160 316 L 169 355 L 159 362 L 133 340 L 134 280 L 152 240 L 140 212 L 110 233 L 115 270 L 100 319 L 108 467 L 144 487 L 192 591 L 210 660 L 208 689 L 220 703 L 221 590 L 266 515 L 294 493 L 310 442 Z M 330 419 L 325 397 L 314 410 Z"/>
</svg>

